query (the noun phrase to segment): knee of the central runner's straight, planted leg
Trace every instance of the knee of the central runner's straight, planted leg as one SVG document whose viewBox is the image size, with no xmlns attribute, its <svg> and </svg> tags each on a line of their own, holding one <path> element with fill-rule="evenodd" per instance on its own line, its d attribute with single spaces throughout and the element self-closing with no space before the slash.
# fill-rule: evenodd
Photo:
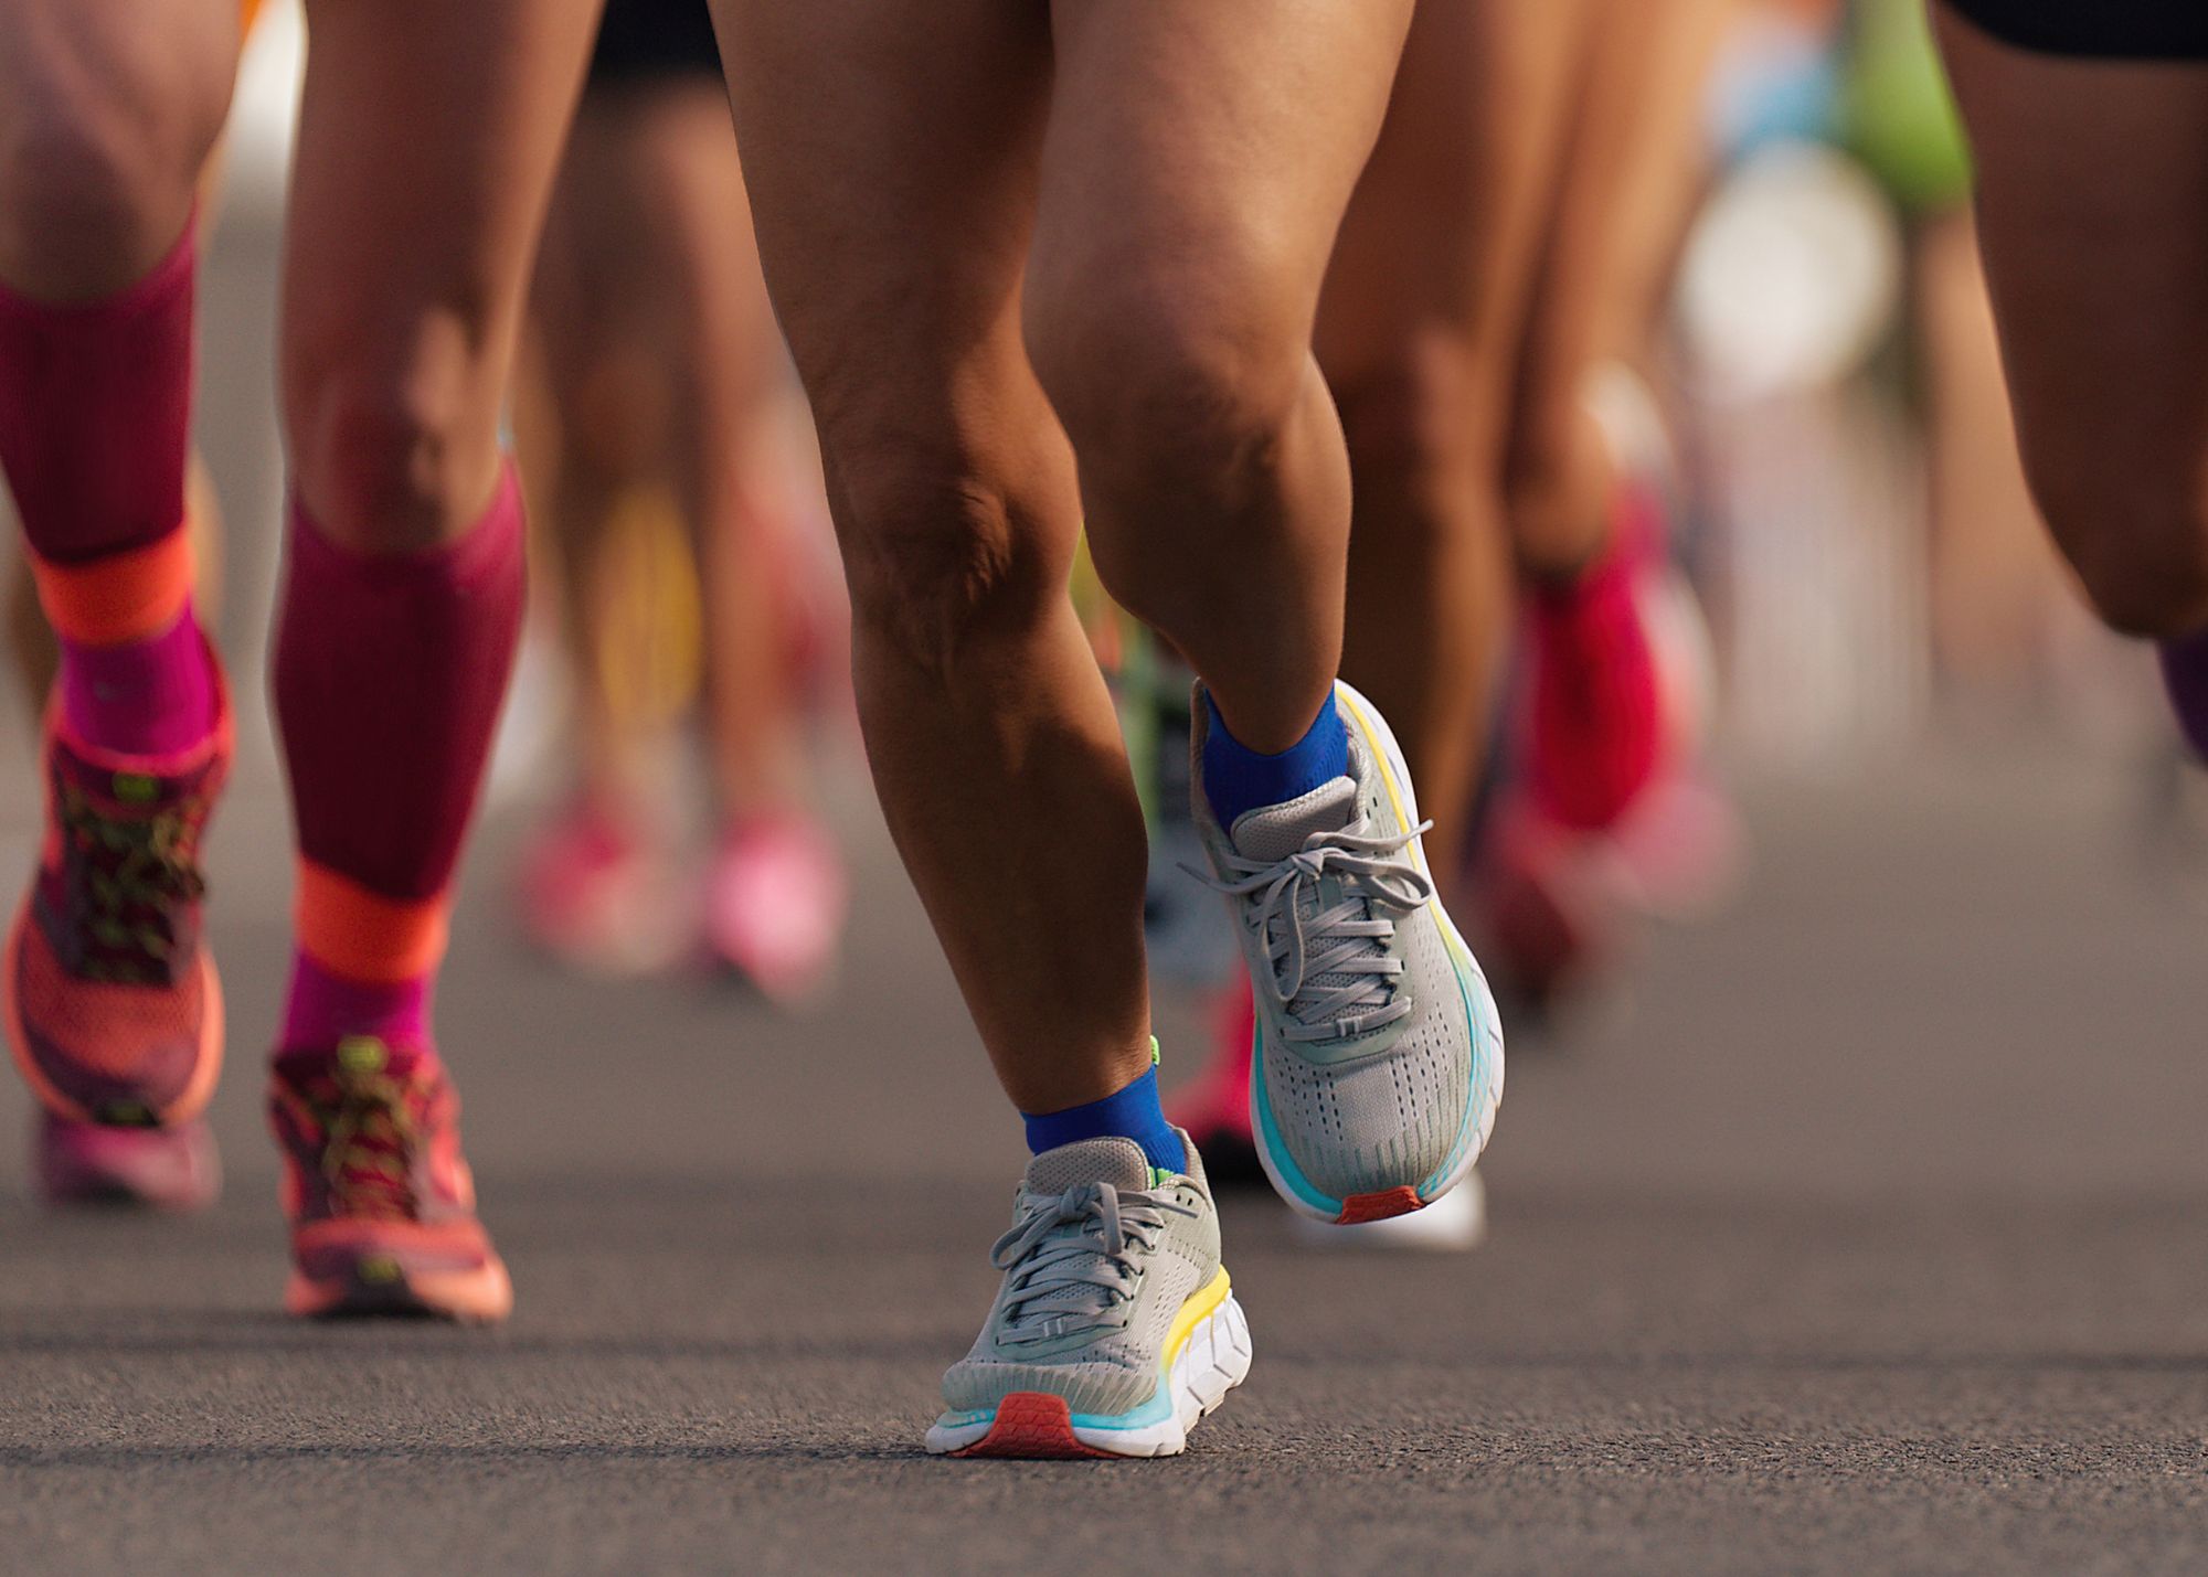
<svg viewBox="0 0 2208 1577">
<path fill-rule="evenodd" d="M 821 451 L 854 638 L 938 680 L 1018 669 L 1069 570 L 1022 490 L 956 435 L 824 426 Z"/>
</svg>

